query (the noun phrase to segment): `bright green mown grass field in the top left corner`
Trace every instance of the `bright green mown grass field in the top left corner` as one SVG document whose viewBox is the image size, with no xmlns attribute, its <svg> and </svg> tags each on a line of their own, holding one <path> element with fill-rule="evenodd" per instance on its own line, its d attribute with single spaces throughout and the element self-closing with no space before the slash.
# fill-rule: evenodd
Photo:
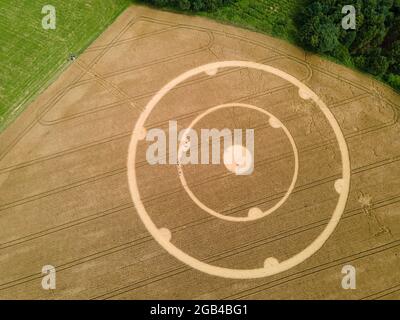
<svg viewBox="0 0 400 320">
<path fill-rule="evenodd" d="M 131 3 L 130 0 L 0 0 L 0 131 Z M 42 7 L 56 8 L 56 30 Z"/>
</svg>

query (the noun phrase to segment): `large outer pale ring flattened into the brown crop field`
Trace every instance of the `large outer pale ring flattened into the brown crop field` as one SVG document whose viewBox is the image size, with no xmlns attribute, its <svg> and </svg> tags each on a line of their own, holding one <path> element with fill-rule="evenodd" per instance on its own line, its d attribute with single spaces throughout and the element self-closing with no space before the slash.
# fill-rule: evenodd
<svg viewBox="0 0 400 320">
<path fill-rule="evenodd" d="M 145 122 L 149 117 L 150 113 L 156 107 L 157 103 L 174 87 L 182 83 L 183 81 L 192 78 L 198 74 L 203 72 L 207 73 L 210 70 L 219 70 L 222 68 L 237 68 L 237 67 L 245 67 L 250 69 L 256 69 L 260 71 L 264 71 L 273 75 L 276 75 L 280 78 L 285 79 L 286 81 L 290 82 L 291 84 L 295 85 L 299 88 L 299 92 L 307 93 L 307 95 L 303 95 L 304 97 L 309 97 L 315 104 L 318 105 L 321 112 L 327 118 L 329 124 L 331 125 L 335 135 L 337 142 L 339 144 L 341 161 L 342 161 L 342 177 L 340 183 L 340 192 L 338 202 L 336 207 L 333 211 L 332 217 L 330 218 L 328 224 L 324 228 L 324 230 L 309 244 L 305 249 L 298 252 L 294 256 L 288 258 L 287 260 L 278 261 L 278 260 L 271 260 L 269 259 L 267 263 L 263 264 L 260 268 L 255 269 L 231 269 L 231 268 L 224 268 L 215 265 L 211 265 L 200 261 L 184 251 L 180 250 L 176 247 L 168 238 L 165 236 L 166 232 L 160 231 L 160 229 L 154 224 L 153 220 L 150 218 L 146 209 L 143 205 L 142 199 L 140 197 L 139 188 L 137 185 L 137 178 L 136 178 L 136 153 L 137 153 L 137 146 L 140 140 L 140 133 L 142 128 L 145 126 Z M 346 140 L 344 139 L 343 133 L 337 123 L 334 115 L 325 105 L 325 103 L 304 83 L 296 79 L 295 77 L 291 76 L 290 74 L 283 72 L 277 68 L 272 66 L 263 65 L 256 62 L 250 61 L 222 61 L 222 62 L 215 62 L 206 65 L 202 65 L 200 67 L 191 69 L 177 78 L 173 79 L 169 83 L 167 83 L 164 87 L 161 88 L 160 91 L 156 93 L 156 95 L 149 101 L 146 105 L 146 108 L 139 116 L 137 120 L 132 137 L 131 142 L 129 144 L 129 153 L 128 153 L 128 183 L 129 183 L 129 190 L 131 193 L 132 201 L 135 204 L 137 213 L 143 224 L 150 232 L 150 234 L 154 237 L 154 239 L 171 255 L 175 258 L 180 260 L 181 262 L 187 264 L 188 266 L 197 269 L 199 271 L 205 272 L 210 275 L 215 275 L 223 278 L 230 278 L 230 279 L 254 279 L 254 278 L 261 278 L 266 276 L 271 276 L 286 270 L 293 268 L 294 266 L 302 263 L 304 260 L 311 257 L 314 253 L 316 253 L 328 240 L 329 236 L 335 230 L 339 220 L 343 214 L 344 208 L 346 206 L 347 198 L 349 195 L 350 189 L 350 159 L 349 159 L 349 152 L 346 144 Z M 163 234 L 164 233 L 164 234 Z"/>
</svg>

